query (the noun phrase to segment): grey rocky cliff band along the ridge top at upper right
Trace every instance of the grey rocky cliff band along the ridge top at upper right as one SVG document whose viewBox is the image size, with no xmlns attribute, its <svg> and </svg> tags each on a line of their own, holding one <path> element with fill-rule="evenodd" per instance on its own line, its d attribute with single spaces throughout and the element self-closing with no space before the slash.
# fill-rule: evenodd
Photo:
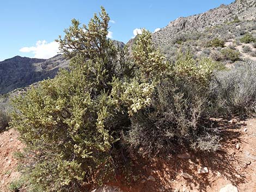
<svg viewBox="0 0 256 192">
<path fill-rule="evenodd" d="M 172 38 L 178 33 L 188 31 L 200 32 L 206 27 L 233 21 L 235 17 L 238 17 L 240 20 L 255 19 L 256 1 L 236 0 L 229 5 L 221 5 L 202 14 L 177 18 L 166 27 L 154 33 L 153 42 L 157 46 L 165 46 L 170 44 Z"/>
</svg>

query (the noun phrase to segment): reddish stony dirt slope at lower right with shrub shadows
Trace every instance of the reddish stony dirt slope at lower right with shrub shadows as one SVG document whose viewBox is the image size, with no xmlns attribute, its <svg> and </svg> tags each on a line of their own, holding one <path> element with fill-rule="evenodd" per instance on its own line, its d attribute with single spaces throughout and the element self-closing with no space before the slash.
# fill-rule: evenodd
<svg viewBox="0 0 256 192">
<path fill-rule="evenodd" d="M 111 185 L 124 192 L 218 192 L 231 183 L 239 192 L 256 192 L 256 119 L 223 120 L 220 125 L 223 128 L 220 151 L 188 152 L 187 159 L 186 155 L 170 157 L 168 162 L 155 159 L 141 166 L 146 170 L 144 176 L 129 187 L 124 186 L 122 179 Z M 207 168 L 208 173 L 199 174 L 200 168 Z"/>
</svg>

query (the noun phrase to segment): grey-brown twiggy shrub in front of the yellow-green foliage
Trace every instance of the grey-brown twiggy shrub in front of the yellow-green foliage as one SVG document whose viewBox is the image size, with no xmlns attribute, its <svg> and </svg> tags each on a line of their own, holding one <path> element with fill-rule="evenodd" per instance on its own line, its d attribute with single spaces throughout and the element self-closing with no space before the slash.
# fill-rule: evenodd
<svg viewBox="0 0 256 192">
<path fill-rule="evenodd" d="M 190 146 L 193 134 L 200 132 L 207 100 L 202 90 L 184 81 L 168 78 L 157 84 L 151 107 L 132 117 L 126 142 L 143 156 L 163 156 Z M 196 94 L 193 94 L 196 93 Z"/>
</svg>

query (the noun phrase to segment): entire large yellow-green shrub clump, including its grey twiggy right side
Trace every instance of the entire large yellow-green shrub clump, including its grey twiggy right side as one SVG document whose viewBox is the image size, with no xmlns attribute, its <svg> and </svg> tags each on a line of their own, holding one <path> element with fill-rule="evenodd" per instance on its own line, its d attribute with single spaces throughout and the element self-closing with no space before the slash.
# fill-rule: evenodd
<svg viewBox="0 0 256 192">
<path fill-rule="evenodd" d="M 13 101 L 11 126 L 27 145 L 21 160 L 32 191 L 81 191 L 106 181 L 123 150 L 161 156 L 174 146 L 216 143 L 199 122 L 218 64 L 191 54 L 168 63 L 147 30 L 129 55 L 107 38 L 108 21 L 104 8 L 88 26 L 72 20 L 58 39 L 70 70 Z"/>
</svg>

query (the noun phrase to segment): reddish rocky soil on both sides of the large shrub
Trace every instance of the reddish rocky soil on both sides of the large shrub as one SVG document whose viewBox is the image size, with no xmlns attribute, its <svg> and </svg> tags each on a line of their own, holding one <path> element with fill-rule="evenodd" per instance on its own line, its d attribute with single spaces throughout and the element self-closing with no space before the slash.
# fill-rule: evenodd
<svg viewBox="0 0 256 192">
<path fill-rule="evenodd" d="M 169 160 L 153 158 L 131 165 L 133 174 L 117 173 L 116 182 L 100 191 L 123 192 L 253 192 L 256 191 L 256 119 L 218 119 L 223 129 L 222 148 L 214 154 L 184 152 Z M 14 152 L 23 148 L 19 134 L 10 129 L 0 133 L 0 191 L 7 192 L 19 177 Z M 132 181 L 127 183 L 127 177 Z M 125 180 L 126 179 L 126 180 Z"/>
</svg>

